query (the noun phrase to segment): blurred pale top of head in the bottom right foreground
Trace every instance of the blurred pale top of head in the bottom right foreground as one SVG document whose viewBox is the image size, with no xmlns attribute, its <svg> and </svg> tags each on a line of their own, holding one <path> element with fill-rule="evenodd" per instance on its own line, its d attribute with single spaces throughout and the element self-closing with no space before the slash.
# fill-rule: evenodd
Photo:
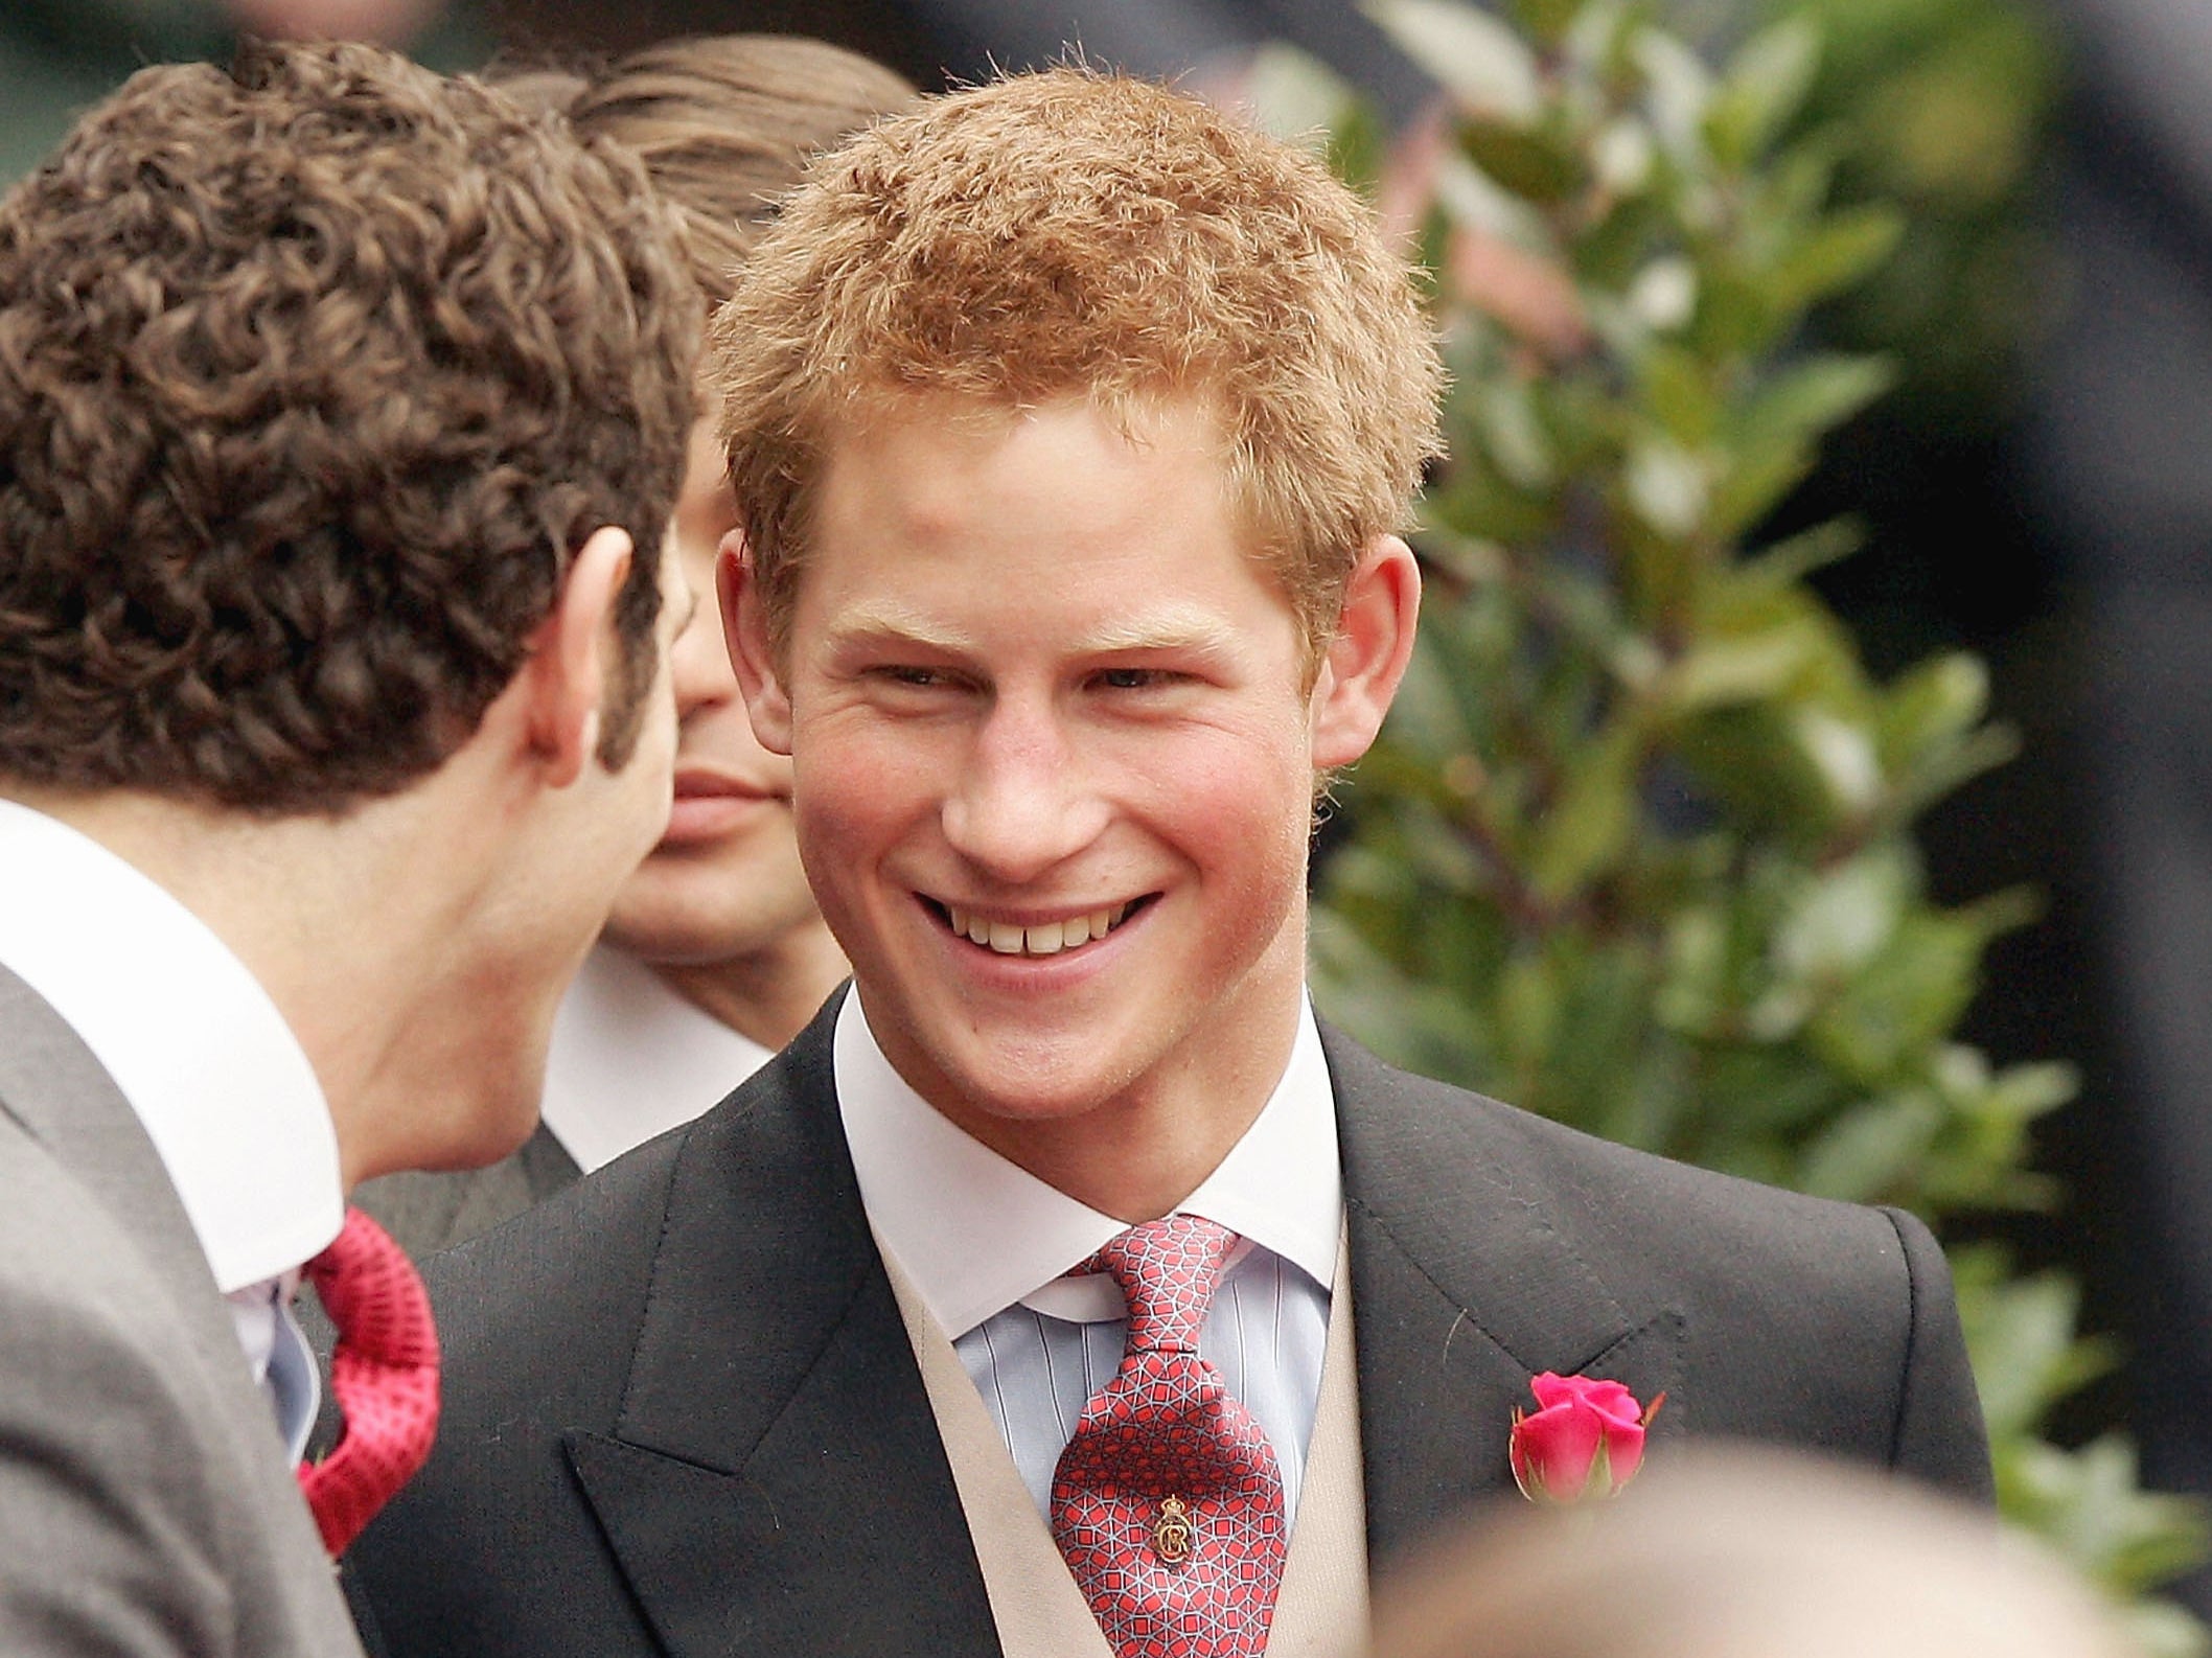
<svg viewBox="0 0 2212 1658">
<path fill-rule="evenodd" d="M 1670 1444 L 1619 1499 L 1531 1508 L 1378 1596 L 1371 1658 L 2143 1658 L 2057 1556 L 1905 1481 Z"/>
</svg>

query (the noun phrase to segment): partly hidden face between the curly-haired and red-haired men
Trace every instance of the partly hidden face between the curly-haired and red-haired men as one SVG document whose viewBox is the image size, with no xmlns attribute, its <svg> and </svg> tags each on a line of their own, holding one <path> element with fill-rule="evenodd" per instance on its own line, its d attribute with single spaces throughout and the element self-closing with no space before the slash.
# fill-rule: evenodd
<svg viewBox="0 0 2212 1658">
<path fill-rule="evenodd" d="M 615 900 L 606 940 L 664 966 L 761 955 L 821 917 L 799 867 L 792 763 L 752 736 L 723 648 L 714 550 L 737 528 L 712 422 L 692 429 L 670 539 L 699 595 L 670 652 L 677 699 L 675 809 L 668 833 Z"/>
</svg>

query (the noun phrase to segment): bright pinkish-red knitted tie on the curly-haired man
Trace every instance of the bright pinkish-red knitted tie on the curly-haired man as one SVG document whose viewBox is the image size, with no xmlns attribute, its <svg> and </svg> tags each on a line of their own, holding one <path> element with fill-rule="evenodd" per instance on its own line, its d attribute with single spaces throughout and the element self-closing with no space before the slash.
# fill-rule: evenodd
<svg viewBox="0 0 2212 1658">
<path fill-rule="evenodd" d="M 407 1251 L 361 1209 L 307 1262 L 338 1329 L 330 1391 L 345 1428 L 319 1463 L 299 1466 L 323 1547 L 336 1559 L 429 1457 L 438 1437 L 438 1331 Z"/>
</svg>

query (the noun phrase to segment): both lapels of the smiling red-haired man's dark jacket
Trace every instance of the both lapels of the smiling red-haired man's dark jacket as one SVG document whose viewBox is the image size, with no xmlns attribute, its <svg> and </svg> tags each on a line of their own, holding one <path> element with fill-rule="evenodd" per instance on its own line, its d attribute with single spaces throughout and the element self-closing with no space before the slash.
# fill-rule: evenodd
<svg viewBox="0 0 2212 1658">
<path fill-rule="evenodd" d="M 838 1125 L 838 1001 L 688 1132 L 619 1419 L 611 1435 L 568 1435 L 586 1499 L 677 1658 L 1000 1651 Z M 1489 1119 L 1418 1099 L 1464 1096 L 1327 1028 L 1323 1043 L 1343 1130 L 1369 1556 L 1387 1565 L 1506 1486 L 1511 1413 L 1535 1371 L 1595 1366 L 1650 1397 L 1672 1377 L 1677 1322 L 1615 1300 Z"/>
</svg>

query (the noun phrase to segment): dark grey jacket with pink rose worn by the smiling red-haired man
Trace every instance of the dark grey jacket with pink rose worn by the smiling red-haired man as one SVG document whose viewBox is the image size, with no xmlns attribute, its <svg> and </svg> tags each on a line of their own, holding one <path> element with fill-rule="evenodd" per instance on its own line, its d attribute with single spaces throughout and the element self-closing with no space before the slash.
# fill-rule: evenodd
<svg viewBox="0 0 2212 1658">
<path fill-rule="evenodd" d="M 394 1658 L 995 1654 L 832 1083 L 776 1061 L 431 1262 L 429 1470 L 354 1563 Z M 1951 1282 L 1902 1214 L 1663 1163 L 1385 1068 L 1336 1085 L 1369 1550 L 1506 1488 L 1535 1371 L 1986 1497 Z"/>
</svg>

